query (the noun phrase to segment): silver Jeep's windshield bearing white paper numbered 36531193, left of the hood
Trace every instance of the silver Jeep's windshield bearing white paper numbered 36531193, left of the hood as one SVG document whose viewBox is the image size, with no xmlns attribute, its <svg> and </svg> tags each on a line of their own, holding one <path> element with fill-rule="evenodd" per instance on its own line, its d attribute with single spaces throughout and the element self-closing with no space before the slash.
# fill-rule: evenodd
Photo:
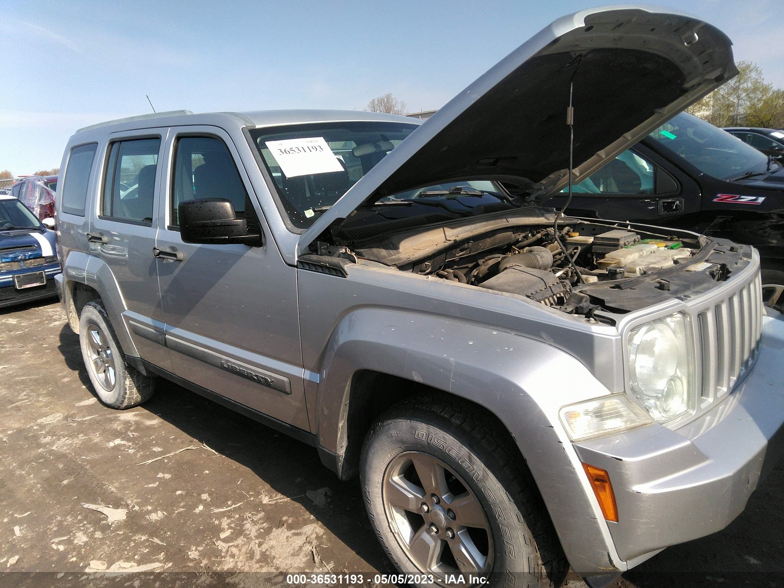
<svg viewBox="0 0 784 588">
<path fill-rule="evenodd" d="M 253 129 L 289 220 L 307 228 L 418 125 L 332 122 Z"/>
</svg>

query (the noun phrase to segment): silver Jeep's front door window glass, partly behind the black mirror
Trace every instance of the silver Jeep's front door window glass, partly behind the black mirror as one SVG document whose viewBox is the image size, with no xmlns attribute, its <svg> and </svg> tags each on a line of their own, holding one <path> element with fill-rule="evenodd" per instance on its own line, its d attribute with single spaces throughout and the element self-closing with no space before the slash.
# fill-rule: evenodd
<svg viewBox="0 0 784 588">
<path fill-rule="evenodd" d="M 226 198 L 241 218 L 247 195 L 234 158 L 222 140 L 209 136 L 184 136 L 177 140 L 171 200 L 173 226 L 180 226 L 180 202 Z"/>
</svg>

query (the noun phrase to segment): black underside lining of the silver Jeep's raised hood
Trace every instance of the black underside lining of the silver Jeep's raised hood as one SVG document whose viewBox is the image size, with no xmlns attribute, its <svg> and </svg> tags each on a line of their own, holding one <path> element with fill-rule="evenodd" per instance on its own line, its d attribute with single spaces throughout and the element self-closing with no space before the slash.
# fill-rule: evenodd
<svg viewBox="0 0 784 588">
<path fill-rule="evenodd" d="M 434 178 L 497 178 L 525 189 L 568 169 L 570 82 L 579 165 L 677 100 L 685 80 L 673 61 L 637 49 L 532 57 L 413 154 L 373 198 Z"/>
</svg>

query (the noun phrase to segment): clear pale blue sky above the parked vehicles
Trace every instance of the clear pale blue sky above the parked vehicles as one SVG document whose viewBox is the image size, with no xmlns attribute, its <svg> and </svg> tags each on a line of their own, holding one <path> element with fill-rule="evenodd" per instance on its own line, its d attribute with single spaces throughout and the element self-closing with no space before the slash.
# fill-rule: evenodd
<svg viewBox="0 0 784 588">
<path fill-rule="evenodd" d="M 361 110 L 387 92 L 441 107 L 550 21 L 607 3 L 2 0 L 0 170 L 60 165 L 75 129 L 149 112 L 145 94 L 158 111 Z M 784 86 L 780 2 L 677 6 Z"/>
</svg>

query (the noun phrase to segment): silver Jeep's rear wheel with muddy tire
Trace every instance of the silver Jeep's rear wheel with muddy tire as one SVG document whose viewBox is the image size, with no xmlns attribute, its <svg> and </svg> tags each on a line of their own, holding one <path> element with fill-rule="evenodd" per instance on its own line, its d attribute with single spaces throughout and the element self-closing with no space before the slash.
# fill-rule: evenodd
<svg viewBox="0 0 784 588">
<path fill-rule="evenodd" d="M 153 394 L 155 378 L 125 365 L 125 356 L 99 300 L 86 303 L 79 318 L 79 345 L 93 389 L 104 405 L 131 408 Z"/>
</svg>

